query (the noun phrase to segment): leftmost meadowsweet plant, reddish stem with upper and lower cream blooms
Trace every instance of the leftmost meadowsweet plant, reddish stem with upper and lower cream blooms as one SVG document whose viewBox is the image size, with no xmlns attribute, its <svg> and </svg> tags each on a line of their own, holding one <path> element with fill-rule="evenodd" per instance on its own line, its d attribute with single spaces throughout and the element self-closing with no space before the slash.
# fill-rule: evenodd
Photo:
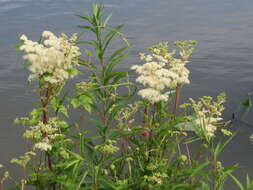
<svg viewBox="0 0 253 190">
<path fill-rule="evenodd" d="M 24 52 L 23 58 L 31 72 L 28 81 L 36 83 L 40 104 L 29 117 L 15 120 L 25 126 L 23 136 L 32 143 L 31 151 L 11 160 L 24 168 L 21 183 L 16 183 L 16 186 L 57 189 L 57 173 L 61 170 L 58 164 L 69 158 L 67 149 L 72 145 L 72 140 L 64 134 L 69 126 L 59 116 L 68 116 L 63 105 L 65 97 L 60 97 L 60 93 L 65 82 L 78 73 L 75 65 L 81 53 L 75 45 L 77 35 L 68 39 L 65 34 L 57 37 L 50 31 L 44 31 L 38 42 L 29 40 L 25 35 L 20 40 L 22 44 L 19 48 Z"/>
</svg>

